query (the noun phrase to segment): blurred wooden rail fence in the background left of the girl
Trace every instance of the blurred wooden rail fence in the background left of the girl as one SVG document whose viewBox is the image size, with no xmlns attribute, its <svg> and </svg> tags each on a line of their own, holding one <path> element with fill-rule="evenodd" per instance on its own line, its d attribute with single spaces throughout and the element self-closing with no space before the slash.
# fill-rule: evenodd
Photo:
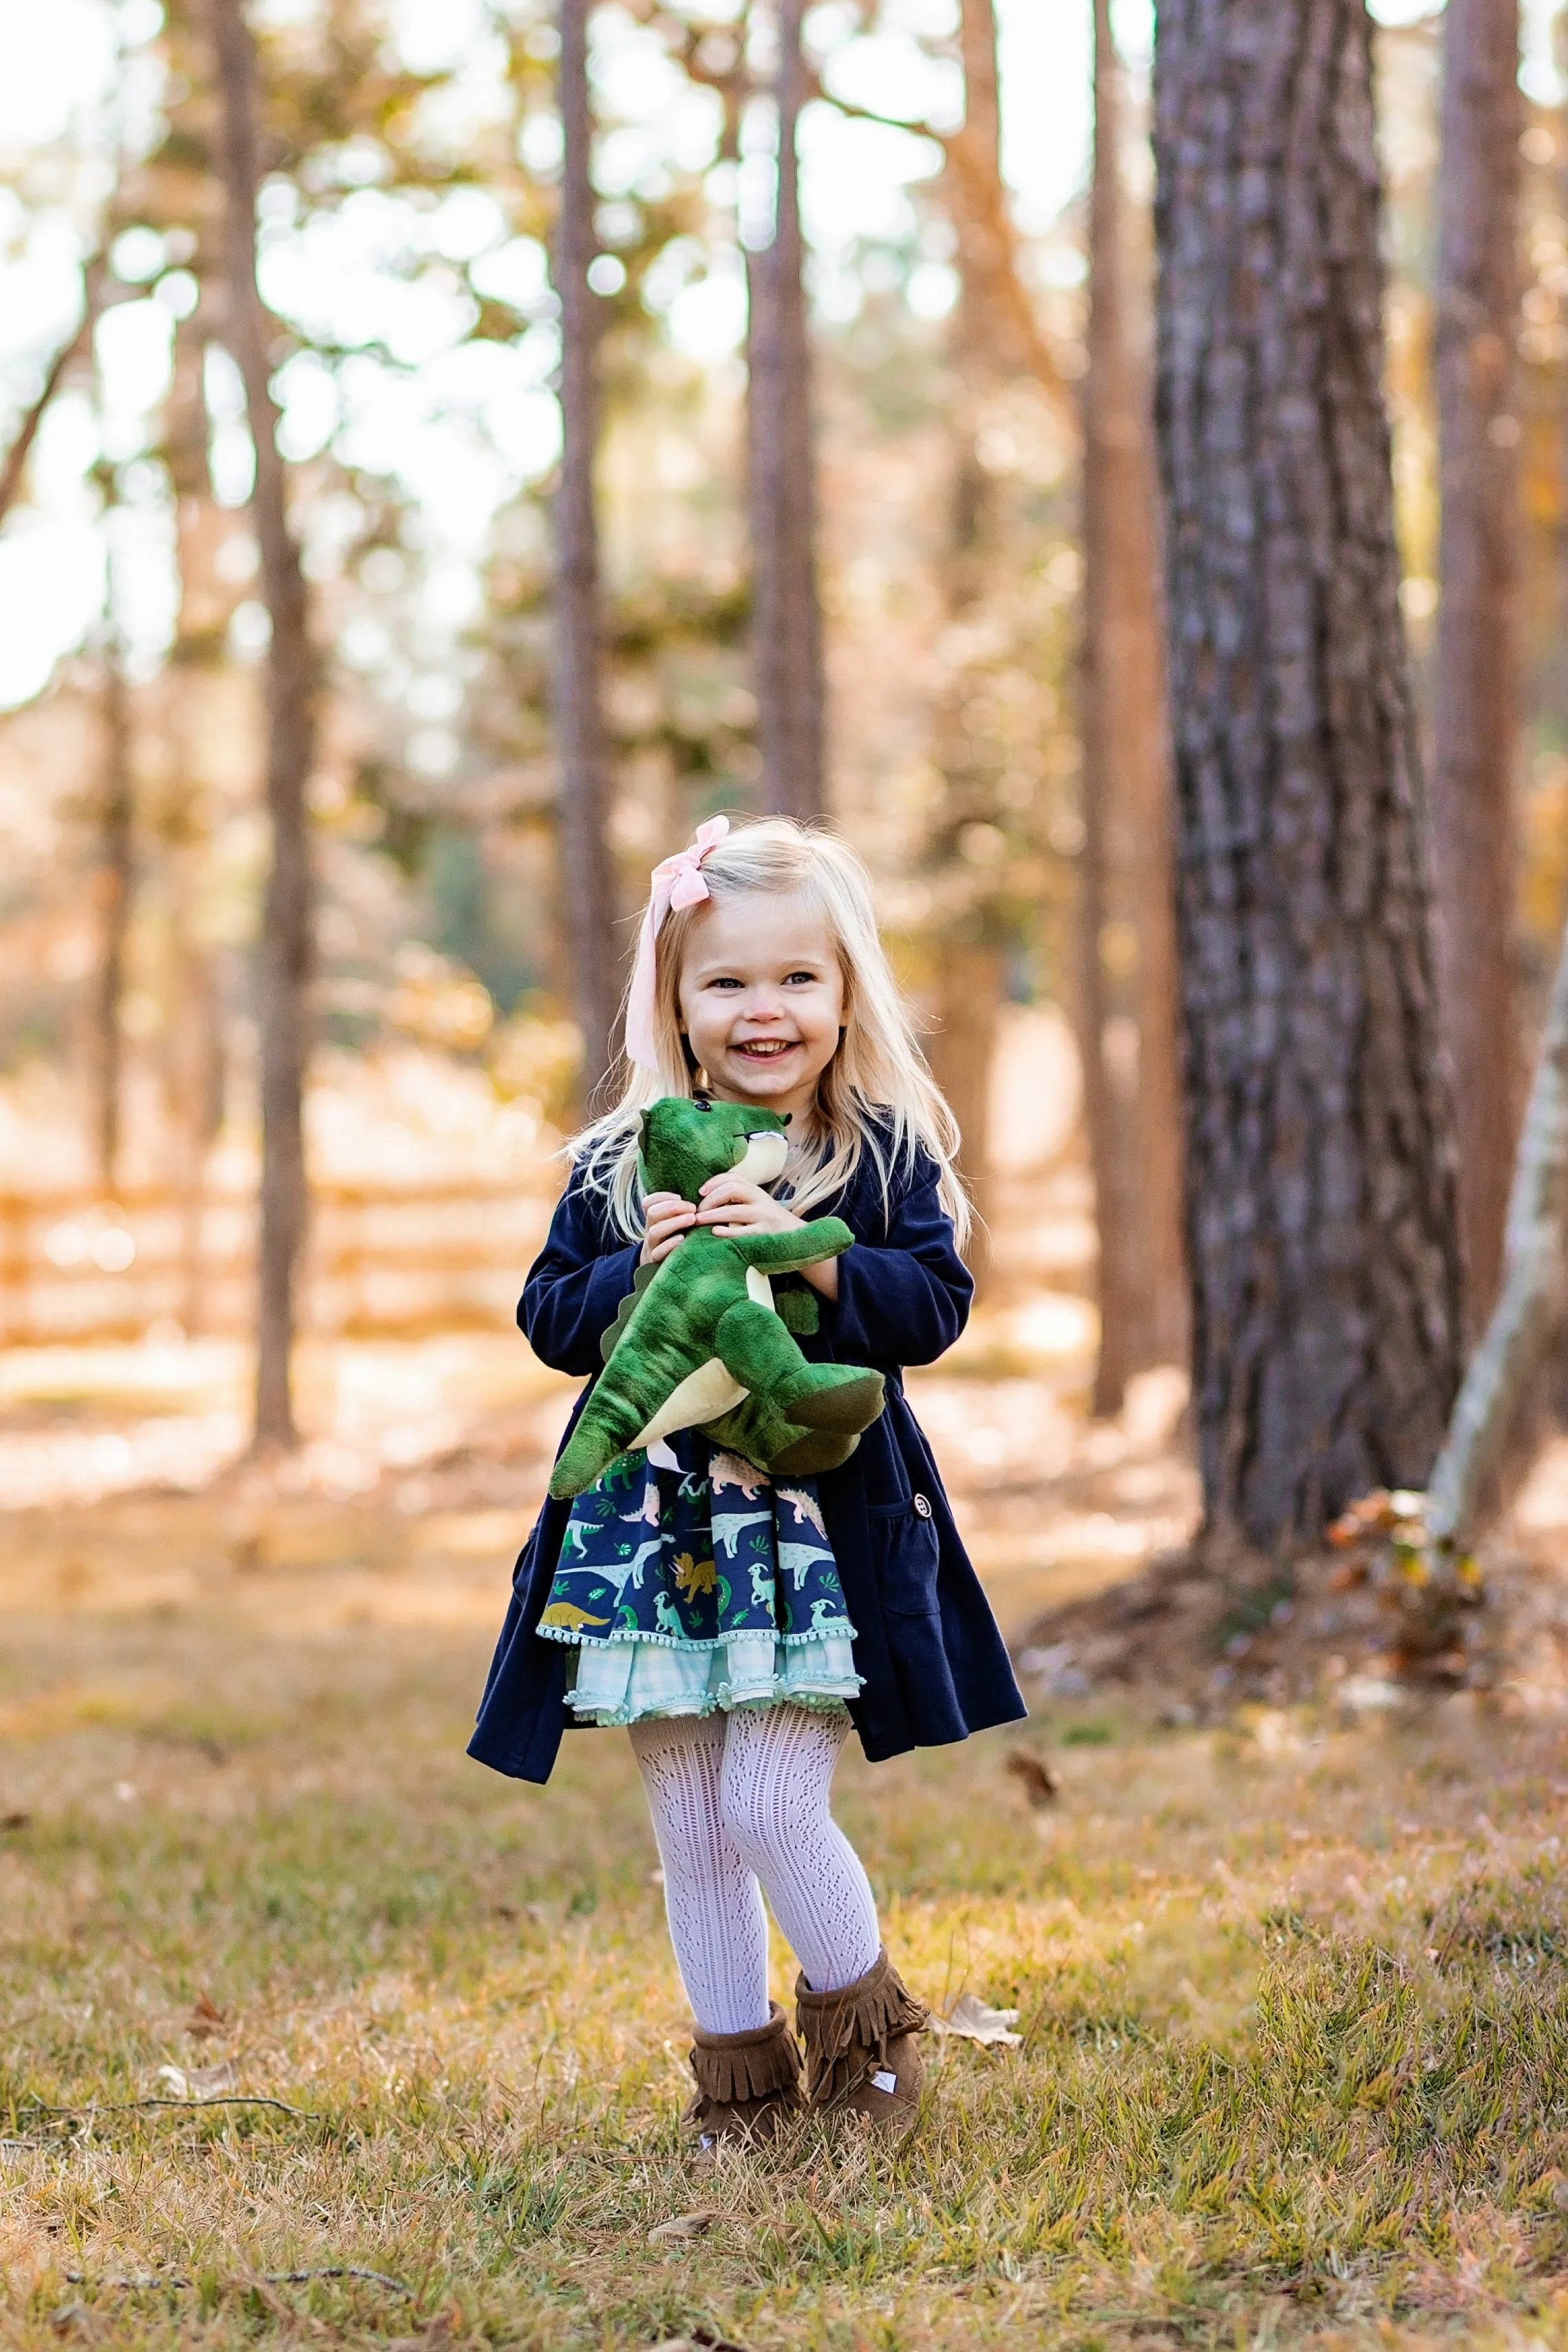
<svg viewBox="0 0 1568 2352">
<path fill-rule="evenodd" d="M 508 1324 L 552 1195 L 322 1183 L 310 1204 L 301 1329 L 390 1336 Z M 249 1334 L 254 1284 L 254 1192 L 0 1192 L 2 1345 Z"/>
</svg>

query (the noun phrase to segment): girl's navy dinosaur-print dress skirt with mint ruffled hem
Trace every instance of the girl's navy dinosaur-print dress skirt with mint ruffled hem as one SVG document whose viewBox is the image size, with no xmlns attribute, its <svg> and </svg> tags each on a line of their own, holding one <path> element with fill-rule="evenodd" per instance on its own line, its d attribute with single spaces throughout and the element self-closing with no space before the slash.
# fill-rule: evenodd
<svg viewBox="0 0 1568 2352">
<path fill-rule="evenodd" d="M 571 1505 L 538 1621 L 574 1649 L 585 1724 L 790 1703 L 844 1712 L 860 1689 L 823 1505 L 682 1432 L 623 1454 Z"/>
</svg>

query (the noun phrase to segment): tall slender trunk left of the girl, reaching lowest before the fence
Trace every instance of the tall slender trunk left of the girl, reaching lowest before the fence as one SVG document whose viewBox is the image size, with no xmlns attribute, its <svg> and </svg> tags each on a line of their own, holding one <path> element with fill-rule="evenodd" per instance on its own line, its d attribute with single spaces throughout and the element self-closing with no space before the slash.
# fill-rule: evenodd
<svg viewBox="0 0 1568 2352">
<path fill-rule="evenodd" d="M 303 1091 L 313 887 L 306 790 L 315 762 L 317 661 L 299 546 L 289 529 L 268 318 L 256 289 L 259 94 L 244 0 L 209 0 L 219 80 L 219 155 L 228 233 L 228 348 L 244 379 L 256 445 L 252 517 L 273 640 L 266 668 L 273 863 L 261 920 L 261 1249 L 256 1298 L 256 1449 L 296 1444 L 294 1308 L 308 1190 Z"/>
</svg>

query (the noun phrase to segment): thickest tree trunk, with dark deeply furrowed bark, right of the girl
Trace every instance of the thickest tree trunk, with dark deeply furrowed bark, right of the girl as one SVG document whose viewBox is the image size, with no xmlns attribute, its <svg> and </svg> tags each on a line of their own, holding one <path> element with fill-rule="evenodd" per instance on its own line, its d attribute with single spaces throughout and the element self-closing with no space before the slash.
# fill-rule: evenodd
<svg viewBox="0 0 1568 2352">
<path fill-rule="evenodd" d="M 1422 1486 L 1458 1383 L 1363 0 L 1159 12 L 1187 1261 L 1208 1531 Z"/>
</svg>

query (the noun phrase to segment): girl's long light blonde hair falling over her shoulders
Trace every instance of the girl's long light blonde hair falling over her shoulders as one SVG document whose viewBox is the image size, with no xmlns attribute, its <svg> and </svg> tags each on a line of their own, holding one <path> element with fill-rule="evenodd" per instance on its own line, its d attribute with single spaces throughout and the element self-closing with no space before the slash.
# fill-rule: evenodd
<svg viewBox="0 0 1568 2352">
<path fill-rule="evenodd" d="M 790 816 L 766 816 L 741 826 L 703 858 L 703 880 L 715 901 L 752 891 L 802 898 L 827 924 L 844 974 L 844 1033 L 816 1087 L 820 1136 L 790 1145 L 783 1169 L 790 1207 L 806 1216 L 851 1181 L 870 1160 L 886 1207 L 889 1183 L 926 1150 L 938 1167 L 938 1200 L 959 1242 L 969 1237 L 971 1211 L 954 1167 L 959 1127 L 931 1077 L 914 1035 L 886 948 L 877 931 L 872 882 L 844 842 L 816 833 Z M 621 1101 L 571 1138 L 569 1152 L 590 1192 L 609 1200 L 611 1223 L 628 1242 L 642 1237 L 642 1183 L 637 1171 L 639 1115 L 668 1094 L 691 1098 L 693 1065 L 679 1025 L 679 974 L 703 906 L 672 908 L 658 934 L 654 1035 L 658 1070 L 625 1063 Z"/>
</svg>

